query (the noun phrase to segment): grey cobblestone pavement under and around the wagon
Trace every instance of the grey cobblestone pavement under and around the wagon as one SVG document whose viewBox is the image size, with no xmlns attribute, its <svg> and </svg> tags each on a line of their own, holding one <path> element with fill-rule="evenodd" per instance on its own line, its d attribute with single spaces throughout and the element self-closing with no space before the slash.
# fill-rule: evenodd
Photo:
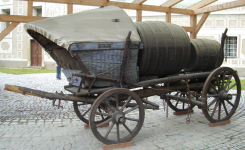
<svg viewBox="0 0 245 150">
<path fill-rule="evenodd" d="M 67 81 L 56 80 L 52 73 L 0 73 L 0 149 L 102 149 L 91 130 L 84 129 L 71 102 L 62 102 L 63 109 L 57 109 L 50 100 L 4 91 L 5 84 L 60 92 Z M 190 124 L 186 124 L 186 115 L 175 116 L 170 109 L 166 118 L 162 101 L 151 97 L 160 110 L 146 110 L 143 127 L 132 140 L 134 145 L 122 149 L 245 149 L 244 96 L 243 91 L 231 123 L 219 127 L 209 127 L 196 107 Z"/>
</svg>

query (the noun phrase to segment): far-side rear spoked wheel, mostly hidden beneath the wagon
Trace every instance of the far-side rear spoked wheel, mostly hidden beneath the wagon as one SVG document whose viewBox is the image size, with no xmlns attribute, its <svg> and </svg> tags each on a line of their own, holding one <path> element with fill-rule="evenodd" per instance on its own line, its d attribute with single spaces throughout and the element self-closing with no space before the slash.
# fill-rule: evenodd
<svg viewBox="0 0 245 150">
<path fill-rule="evenodd" d="M 187 98 L 187 94 L 186 93 L 177 92 L 174 95 L 175 96 L 179 96 L 179 97 Z M 176 112 L 187 111 L 189 107 L 190 107 L 190 109 L 192 109 L 193 107 L 195 107 L 195 105 L 188 105 L 188 103 L 181 102 L 181 101 L 174 100 L 174 99 L 169 99 L 167 101 L 167 103 L 168 103 L 168 106 L 172 110 L 174 110 Z"/>
</svg>

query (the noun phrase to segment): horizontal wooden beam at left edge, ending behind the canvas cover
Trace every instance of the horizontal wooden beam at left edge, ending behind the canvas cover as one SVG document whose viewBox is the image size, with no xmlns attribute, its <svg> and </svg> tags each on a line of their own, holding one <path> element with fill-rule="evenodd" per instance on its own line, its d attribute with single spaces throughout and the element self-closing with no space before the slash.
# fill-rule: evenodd
<svg viewBox="0 0 245 150">
<path fill-rule="evenodd" d="M 1 15 L 0 22 L 31 22 L 41 19 L 46 19 L 48 17 L 36 17 L 36 16 L 20 16 L 20 15 Z"/>
</svg>

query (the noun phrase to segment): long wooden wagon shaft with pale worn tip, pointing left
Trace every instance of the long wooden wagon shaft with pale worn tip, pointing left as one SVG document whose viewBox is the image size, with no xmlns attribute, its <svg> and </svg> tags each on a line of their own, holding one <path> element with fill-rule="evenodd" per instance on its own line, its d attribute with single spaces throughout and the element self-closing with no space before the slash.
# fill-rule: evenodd
<svg viewBox="0 0 245 150">
<path fill-rule="evenodd" d="M 13 85 L 8 85 L 8 84 L 5 84 L 4 90 L 37 96 L 37 97 L 42 97 L 42 98 L 47 98 L 50 100 L 60 99 L 60 100 L 82 101 L 86 103 L 93 103 L 97 98 L 97 97 L 77 97 L 77 96 L 73 96 L 72 94 L 49 93 L 49 92 L 43 92 L 40 90 L 34 90 L 30 88 L 25 88 L 21 86 L 13 86 Z"/>
</svg>

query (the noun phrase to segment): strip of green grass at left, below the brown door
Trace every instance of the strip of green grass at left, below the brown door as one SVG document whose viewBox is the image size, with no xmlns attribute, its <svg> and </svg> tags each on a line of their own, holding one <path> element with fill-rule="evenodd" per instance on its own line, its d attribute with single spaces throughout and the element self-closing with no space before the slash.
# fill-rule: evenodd
<svg viewBox="0 0 245 150">
<path fill-rule="evenodd" d="M 8 74 L 36 74 L 36 73 L 56 73 L 53 69 L 10 69 L 0 68 L 0 72 Z"/>
</svg>

